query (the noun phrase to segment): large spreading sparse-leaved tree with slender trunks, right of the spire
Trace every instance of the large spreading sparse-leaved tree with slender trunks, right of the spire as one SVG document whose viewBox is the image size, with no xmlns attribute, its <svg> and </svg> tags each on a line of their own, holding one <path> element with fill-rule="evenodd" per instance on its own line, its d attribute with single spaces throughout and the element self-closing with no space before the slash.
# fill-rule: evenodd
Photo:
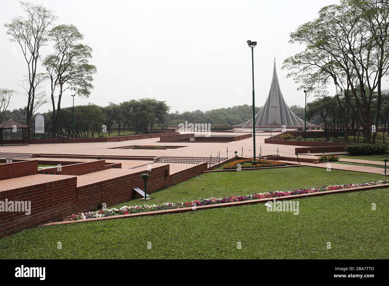
<svg viewBox="0 0 389 286">
<path fill-rule="evenodd" d="M 387 19 L 382 19 L 387 18 L 387 10 L 386 1 L 374 0 L 342 0 L 326 6 L 317 19 L 291 33 L 290 42 L 305 44 L 306 49 L 284 61 L 284 67 L 293 70 L 289 76 L 300 81 L 301 88 L 305 85 L 313 90 L 329 81 L 339 86 L 348 104 L 339 101 L 340 107 L 343 111 L 351 109 L 364 128 L 367 142 L 371 142 L 370 105 L 389 67 Z M 373 20 L 377 15 L 378 20 Z M 369 21 L 380 22 L 380 32 Z"/>
</svg>

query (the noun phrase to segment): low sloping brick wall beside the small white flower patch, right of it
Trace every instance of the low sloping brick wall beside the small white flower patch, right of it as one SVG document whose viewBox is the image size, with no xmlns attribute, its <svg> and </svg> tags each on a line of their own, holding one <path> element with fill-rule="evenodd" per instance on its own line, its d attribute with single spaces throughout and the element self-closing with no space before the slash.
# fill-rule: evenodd
<svg viewBox="0 0 389 286">
<path fill-rule="evenodd" d="M 40 172 L 46 174 L 47 172 L 48 174 L 54 173 L 55 175 L 79 176 L 79 175 L 89 174 L 92 172 L 102 171 L 105 169 L 106 169 L 105 160 L 97 160 L 92 162 L 84 162 L 84 163 L 61 166 L 60 170 L 58 170 L 58 167 L 38 170 L 38 174 L 40 174 Z"/>
</svg>

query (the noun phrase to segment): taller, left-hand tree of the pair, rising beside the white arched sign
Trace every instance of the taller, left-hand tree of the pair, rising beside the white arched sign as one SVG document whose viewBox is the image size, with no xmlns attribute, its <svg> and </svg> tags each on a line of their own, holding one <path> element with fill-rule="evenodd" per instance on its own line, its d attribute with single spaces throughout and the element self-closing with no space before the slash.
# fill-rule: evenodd
<svg viewBox="0 0 389 286">
<path fill-rule="evenodd" d="M 17 42 L 21 48 L 28 67 L 27 88 L 27 114 L 26 124 L 30 125 L 30 119 L 34 111 L 35 103 L 35 77 L 37 75 L 40 49 L 47 44 L 47 32 L 56 17 L 52 11 L 42 5 L 33 5 L 28 2 L 20 2 L 24 16 L 16 16 L 11 23 L 5 24 L 7 34 L 11 42 Z M 30 136 L 30 129 L 26 135 Z"/>
</svg>

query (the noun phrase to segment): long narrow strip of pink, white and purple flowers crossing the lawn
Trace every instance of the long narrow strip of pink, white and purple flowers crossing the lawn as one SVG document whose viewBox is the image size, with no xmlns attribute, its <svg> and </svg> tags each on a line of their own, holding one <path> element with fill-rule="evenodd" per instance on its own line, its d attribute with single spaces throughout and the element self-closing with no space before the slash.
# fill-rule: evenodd
<svg viewBox="0 0 389 286">
<path fill-rule="evenodd" d="M 178 203 L 164 203 L 161 205 L 135 205 L 135 207 L 128 207 L 124 205 L 120 209 L 112 208 L 105 209 L 100 211 L 91 211 L 91 212 L 79 212 L 77 214 L 72 214 L 70 216 L 64 217 L 61 221 L 75 221 L 79 219 L 88 219 L 88 218 L 102 218 L 106 216 L 117 216 L 121 214 L 135 214 L 139 212 L 151 212 L 151 211 L 161 211 L 168 209 L 180 209 L 182 207 L 193 207 L 193 206 L 202 206 L 202 205 L 214 205 L 214 204 L 225 204 L 230 202 L 243 202 L 248 200 L 258 200 L 261 198 L 276 198 L 276 197 L 285 197 L 291 195 L 301 195 L 308 193 L 317 193 L 323 191 L 333 191 L 337 189 L 349 189 L 363 186 L 375 186 L 380 184 L 388 184 L 389 181 L 378 181 L 378 182 L 366 182 L 359 184 L 344 184 L 344 185 L 335 185 L 335 186 L 321 186 L 318 188 L 309 188 L 309 189 L 295 189 L 293 191 L 271 191 L 265 193 L 251 194 L 248 196 L 234 196 L 234 197 L 224 197 L 224 198 L 205 198 L 202 200 L 194 200 L 191 202 L 178 202 Z"/>
</svg>

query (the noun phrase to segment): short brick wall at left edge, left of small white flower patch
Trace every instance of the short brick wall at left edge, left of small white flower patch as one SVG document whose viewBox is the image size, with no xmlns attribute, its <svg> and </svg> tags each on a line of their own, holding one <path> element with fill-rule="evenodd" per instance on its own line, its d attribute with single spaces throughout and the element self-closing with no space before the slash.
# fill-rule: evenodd
<svg viewBox="0 0 389 286">
<path fill-rule="evenodd" d="M 37 170 L 38 162 L 36 160 L 0 164 L 0 180 L 35 175 Z"/>
</svg>

